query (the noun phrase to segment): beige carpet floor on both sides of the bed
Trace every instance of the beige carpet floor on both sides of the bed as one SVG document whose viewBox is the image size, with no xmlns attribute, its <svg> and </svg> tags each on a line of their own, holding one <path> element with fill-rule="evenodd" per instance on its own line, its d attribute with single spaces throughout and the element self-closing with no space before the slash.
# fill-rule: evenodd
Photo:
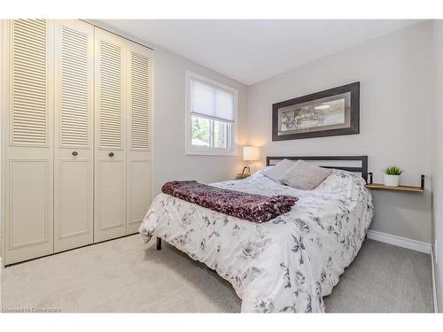
<svg viewBox="0 0 443 332">
<path fill-rule="evenodd" d="M 139 235 L 6 267 L 2 307 L 72 312 L 237 313 L 228 282 L 164 244 Z M 366 240 L 327 312 L 432 312 L 431 257 Z"/>
</svg>

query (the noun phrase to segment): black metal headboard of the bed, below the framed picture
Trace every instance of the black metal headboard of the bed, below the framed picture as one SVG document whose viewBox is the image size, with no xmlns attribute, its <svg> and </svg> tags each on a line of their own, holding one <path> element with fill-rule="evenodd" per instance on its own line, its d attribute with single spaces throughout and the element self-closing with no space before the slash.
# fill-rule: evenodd
<svg viewBox="0 0 443 332">
<path fill-rule="evenodd" d="M 361 166 L 350 167 L 350 166 L 321 166 L 324 168 L 335 168 L 342 169 L 348 172 L 361 173 L 361 177 L 368 182 L 368 156 L 310 156 L 310 157 L 267 157 L 266 166 L 274 165 L 271 162 L 273 160 L 317 160 L 317 161 L 342 161 L 342 160 L 352 160 L 361 161 Z"/>
</svg>

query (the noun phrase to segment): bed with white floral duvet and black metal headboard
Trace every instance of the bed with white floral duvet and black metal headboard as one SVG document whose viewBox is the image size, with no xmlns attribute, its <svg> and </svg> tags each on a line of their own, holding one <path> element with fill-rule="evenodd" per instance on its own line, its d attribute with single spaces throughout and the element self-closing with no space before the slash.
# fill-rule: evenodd
<svg viewBox="0 0 443 332">
<path fill-rule="evenodd" d="M 332 173 L 311 191 L 270 180 L 263 170 L 244 180 L 211 184 L 299 198 L 290 212 L 261 224 L 161 193 L 152 201 L 140 234 L 145 242 L 157 236 L 214 269 L 242 299 L 242 312 L 323 313 L 323 297 L 354 260 L 374 215 L 372 197 L 364 187 L 368 158 L 268 157 L 267 167 L 283 158 L 361 165 L 328 164 Z"/>
</svg>

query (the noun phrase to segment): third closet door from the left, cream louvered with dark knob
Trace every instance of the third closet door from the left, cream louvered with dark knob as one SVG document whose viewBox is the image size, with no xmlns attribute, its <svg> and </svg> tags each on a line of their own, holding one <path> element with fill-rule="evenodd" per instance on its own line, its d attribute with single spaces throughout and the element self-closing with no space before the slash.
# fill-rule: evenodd
<svg viewBox="0 0 443 332">
<path fill-rule="evenodd" d="M 94 242 L 126 235 L 126 42 L 95 27 Z"/>
</svg>

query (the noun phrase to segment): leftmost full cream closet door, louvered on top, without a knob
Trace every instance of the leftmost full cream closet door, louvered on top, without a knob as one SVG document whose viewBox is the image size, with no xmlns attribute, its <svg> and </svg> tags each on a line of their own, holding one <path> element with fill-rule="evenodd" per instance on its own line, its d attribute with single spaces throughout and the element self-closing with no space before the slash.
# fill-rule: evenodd
<svg viewBox="0 0 443 332">
<path fill-rule="evenodd" d="M 51 21 L 4 21 L 5 264 L 53 252 Z"/>
</svg>

